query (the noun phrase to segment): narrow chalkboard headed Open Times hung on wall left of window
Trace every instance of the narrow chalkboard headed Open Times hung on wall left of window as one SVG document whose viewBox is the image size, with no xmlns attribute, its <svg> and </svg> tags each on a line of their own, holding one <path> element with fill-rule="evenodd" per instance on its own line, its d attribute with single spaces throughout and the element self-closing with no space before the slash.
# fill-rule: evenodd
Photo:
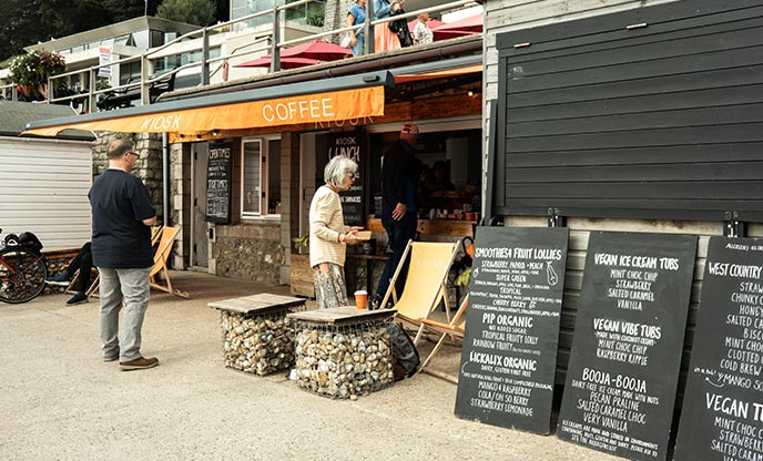
<svg viewBox="0 0 763 461">
<path fill-rule="evenodd" d="M 210 144 L 210 158 L 206 166 L 206 217 L 217 224 L 231 222 L 231 162 L 232 143 Z"/>
</svg>

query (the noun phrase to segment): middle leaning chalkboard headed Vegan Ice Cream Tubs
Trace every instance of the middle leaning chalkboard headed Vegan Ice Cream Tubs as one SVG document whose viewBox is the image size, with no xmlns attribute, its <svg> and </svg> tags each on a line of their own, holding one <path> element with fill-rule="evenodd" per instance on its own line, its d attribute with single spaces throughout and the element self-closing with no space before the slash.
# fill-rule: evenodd
<svg viewBox="0 0 763 461">
<path fill-rule="evenodd" d="M 695 254 L 695 236 L 590 234 L 561 439 L 665 459 Z"/>
</svg>

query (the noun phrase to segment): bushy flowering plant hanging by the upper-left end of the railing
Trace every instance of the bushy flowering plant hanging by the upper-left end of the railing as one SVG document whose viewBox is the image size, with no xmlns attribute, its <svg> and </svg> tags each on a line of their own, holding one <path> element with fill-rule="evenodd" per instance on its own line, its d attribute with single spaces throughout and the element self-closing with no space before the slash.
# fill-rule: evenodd
<svg viewBox="0 0 763 461">
<path fill-rule="evenodd" d="M 61 54 L 34 50 L 13 58 L 9 70 L 10 80 L 18 85 L 23 95 L 41 101 L 45 99 L 48 78 L 65 72 L 67 63 Z"/>
</svg>

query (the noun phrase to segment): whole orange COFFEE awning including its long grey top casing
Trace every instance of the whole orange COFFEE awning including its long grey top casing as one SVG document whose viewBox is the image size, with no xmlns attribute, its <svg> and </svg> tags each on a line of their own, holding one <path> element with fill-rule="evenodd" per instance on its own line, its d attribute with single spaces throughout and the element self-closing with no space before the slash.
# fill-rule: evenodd
<svg viewBox="0 0 763 461">
<path fill-rule="evenodd" d="M 167 133 L 200 139 L 213 132 L 352 121 L 384 115 L 387 71 L 177 99 L 27 124 L 21 135 L 55 136 L 64 130 Z"/>
</svg>

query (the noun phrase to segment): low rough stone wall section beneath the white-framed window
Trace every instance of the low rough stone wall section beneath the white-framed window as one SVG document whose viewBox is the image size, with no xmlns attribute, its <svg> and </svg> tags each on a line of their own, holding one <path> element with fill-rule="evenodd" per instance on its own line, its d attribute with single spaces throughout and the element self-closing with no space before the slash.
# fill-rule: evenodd
<svg viewBox="0 0 763 461">
<path fill-rule="evenodd" d="M 274 285 L 281 283 L 281 267 L 286 256 L 281 245 L 279 222 L 257 222 L 216 226 L 212 246 L 215 275 Z"/>
</svg>

